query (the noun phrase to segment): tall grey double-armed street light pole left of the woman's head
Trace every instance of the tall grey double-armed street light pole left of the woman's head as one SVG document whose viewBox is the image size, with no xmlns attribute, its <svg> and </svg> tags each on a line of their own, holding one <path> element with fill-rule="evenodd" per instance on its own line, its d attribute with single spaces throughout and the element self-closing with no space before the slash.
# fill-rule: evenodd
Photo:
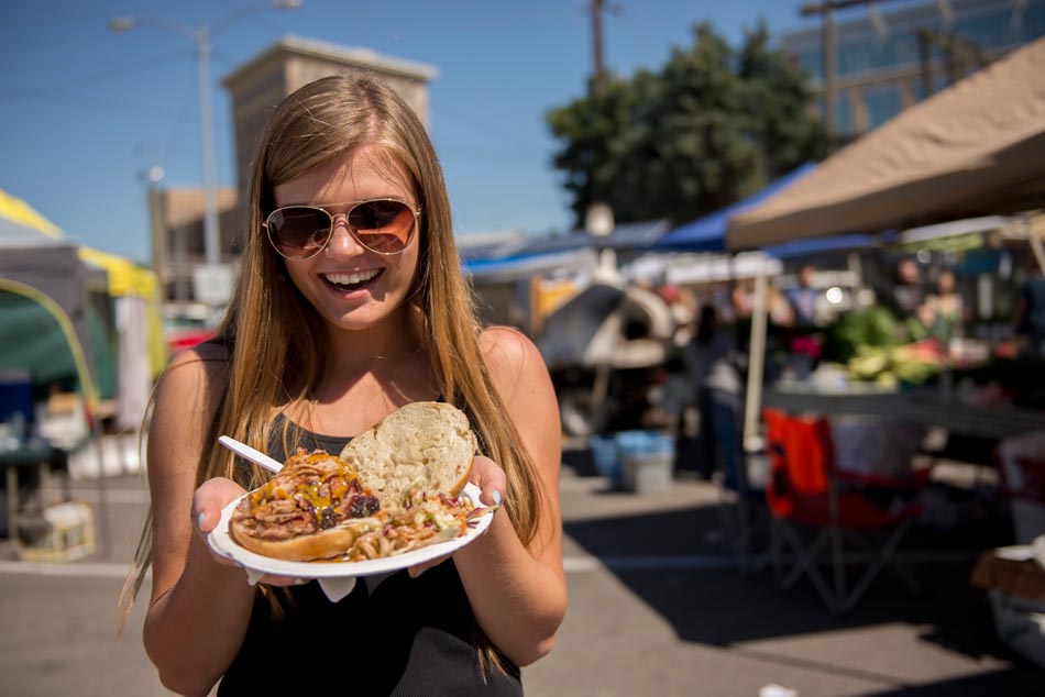
<svg viewBox="0 0 1045 697">
<path fill-rule="evenodd" d="M 296 10 L 302 0 L 268 0 L 239 8 L 213 24 L 193 27 L 173 20 L 124 16 L 109 21 L 109 29 L 127 32 L 135 26 L 158 26 L 185 36 L 196 46 L 196 75 L 199 89 L 200 154 L 204 165 L 204 255 L 208 265 L 221 263 L 221 230 L 218 223 L 217 164 L 215 159 L 215 108 L 210 87 L 210 37 L 233 21 L 270 8 Z"/>
</svg>

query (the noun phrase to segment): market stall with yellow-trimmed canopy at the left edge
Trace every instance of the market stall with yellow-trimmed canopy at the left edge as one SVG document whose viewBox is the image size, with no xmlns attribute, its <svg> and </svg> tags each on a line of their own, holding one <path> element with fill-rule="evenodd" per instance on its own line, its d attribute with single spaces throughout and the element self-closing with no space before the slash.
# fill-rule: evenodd
<svg viewBox="0 0 1045 697">
<path fill-rule="evenodd" d="M 131 433 L 141 423 L 166 358 L 158 301 L 152 272 L 74 243 L 0 191 L 0 465 L 9 541 L 24 528 L 19 489 L 33 493 L 48 471 L 63 473 L 66 484 L 95 476 L 105 507 L 111 468 L 102 422 Z M 78 461 L 89 466 L 78 471 Z"/>
</svg>

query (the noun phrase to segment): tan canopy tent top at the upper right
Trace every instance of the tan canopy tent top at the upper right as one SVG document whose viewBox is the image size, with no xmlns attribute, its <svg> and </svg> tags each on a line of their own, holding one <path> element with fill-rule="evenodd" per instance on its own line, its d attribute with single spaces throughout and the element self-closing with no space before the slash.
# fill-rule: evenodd
<svg viewBox="0 0 1045 697">
<path fill-rule="evenodd" d="M 911 107 L 729 222 L 730 250 L 1045 206 L 1045 38 Z"/>
</svg>

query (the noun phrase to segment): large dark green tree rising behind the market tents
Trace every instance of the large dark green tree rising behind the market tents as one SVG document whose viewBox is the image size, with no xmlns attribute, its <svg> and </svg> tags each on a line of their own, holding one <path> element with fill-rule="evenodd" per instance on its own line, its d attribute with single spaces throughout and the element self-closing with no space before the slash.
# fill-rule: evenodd
<svg viewBox="0 0 1045 697">
<path fill-rule="evenodd" d="M 619 222 L 685 222 L 823 155 L 812 91 L 763 25 L 739 49 L 706 23 L 693 36 L 659 71 L 607 75 L 597 92 L 548 113 L 579 226 L 594 201 Z"/>
</svg>

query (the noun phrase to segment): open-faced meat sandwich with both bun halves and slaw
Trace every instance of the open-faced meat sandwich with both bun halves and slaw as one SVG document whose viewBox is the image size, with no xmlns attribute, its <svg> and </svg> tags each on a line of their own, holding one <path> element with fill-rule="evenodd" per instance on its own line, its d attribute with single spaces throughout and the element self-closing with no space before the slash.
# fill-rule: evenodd
<svg viewBox="0 0 1045 697">
<path fill-rule="evenodd" d="M 463 496 L 477 442 L 451 405 L 414 402 L 333 456 L 298 451 L 241 499 L 230 534 L 287 561 L 364 561 L 464 534 L 475 506 Z"/>
</svg>

